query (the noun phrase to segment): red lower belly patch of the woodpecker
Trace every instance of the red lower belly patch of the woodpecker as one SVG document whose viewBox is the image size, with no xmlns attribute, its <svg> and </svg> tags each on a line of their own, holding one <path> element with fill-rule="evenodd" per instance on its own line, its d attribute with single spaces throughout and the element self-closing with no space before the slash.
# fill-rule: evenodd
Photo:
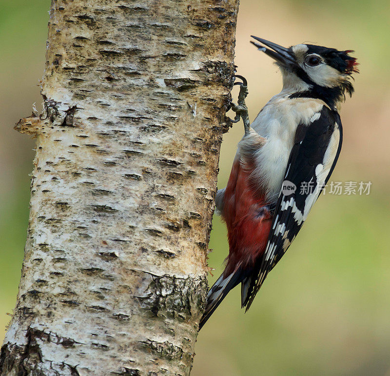
<svg viewBox="0 0 390 376">
<path fill-rule="evenodd" d="M 236 158 L 226 186 L 223 217 L 228 228 L 229 256 L 225 276 L 238 266 L 251 268 L 264 253 L 271 231 L 272 217 L 264 208 L 264 194 L 250 183 L 251 171 L 244 169 Z"/>
</svg>

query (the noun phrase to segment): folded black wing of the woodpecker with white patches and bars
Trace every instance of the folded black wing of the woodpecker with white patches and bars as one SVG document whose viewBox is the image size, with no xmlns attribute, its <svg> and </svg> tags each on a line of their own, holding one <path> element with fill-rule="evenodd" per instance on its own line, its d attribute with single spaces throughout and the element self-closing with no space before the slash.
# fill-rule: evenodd
<svg viewBox="0 0 390 376">
<path fill-rule="evenodd" d="M 267 274 L 298 234 L 312 205 L 329 180 L 340 154 L 341 142 L 340 117 L 327 106 L 314 114 L 309 124 L 298 125 L 283 182 L 285 188 L 294 185 L 296 189 L 289 191 L 282 186 L 266 250 L 258 261 L 246 296 L 243 297 L 246 310 L 251 306 Z"/>
</svg>

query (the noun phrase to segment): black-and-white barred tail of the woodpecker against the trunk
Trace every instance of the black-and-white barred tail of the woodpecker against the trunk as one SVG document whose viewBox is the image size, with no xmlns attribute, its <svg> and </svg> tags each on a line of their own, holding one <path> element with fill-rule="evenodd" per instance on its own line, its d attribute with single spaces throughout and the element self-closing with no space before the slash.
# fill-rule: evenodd
<svg viewBox="0 0 390 376">
<path fill-rule="evenodd" d="M 241 268 L 238 268 L 227 277 L 224 277 L 223 273 L 219 276 L 207 294 L 206 311 L 200 319 L 199 330 L 202 329 L 203 325 L 210 318 L 221 301 L 228 295 L 229 291 L 237 286 L 242 281 L 243 277 Z"/>
</svg>

